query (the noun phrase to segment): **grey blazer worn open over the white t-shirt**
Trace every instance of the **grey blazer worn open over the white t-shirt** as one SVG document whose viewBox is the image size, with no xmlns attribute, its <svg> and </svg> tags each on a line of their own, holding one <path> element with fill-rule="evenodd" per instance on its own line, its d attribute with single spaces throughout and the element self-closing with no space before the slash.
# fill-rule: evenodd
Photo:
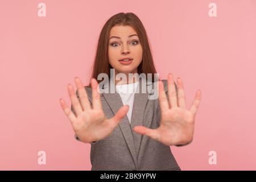
<svg viewBox="0 0 256 182">
<path fill-rule="evenodd" d="M 167 93 L 167 80 L 162 81 Z M 92 104 L 92 89 L 88 86 L 85 86 L 85 89 Z M 141 90 L 141 86 L 138 86 L 138 89 Z M 76 94 L 79 97 L 77 90 Z M 150 93 L 135 93 L 131 125 L 126 115 L 112 134 L 105 139 L 91 143 L 92 170 L 180 170 L 170 146 L 132 130 L 137 125 L 151 129 L 159 127 L 159 100 L 148 100 L 148 94 Z M 102 93 L 101 102 L 107 118 L 113 117 L 123 105 L 121 97 L 116 92 Z M 73 106 L 71 110 L 75 113 Z M 79 140 L 77 137 L 76 139 Z"/>
</svg>

